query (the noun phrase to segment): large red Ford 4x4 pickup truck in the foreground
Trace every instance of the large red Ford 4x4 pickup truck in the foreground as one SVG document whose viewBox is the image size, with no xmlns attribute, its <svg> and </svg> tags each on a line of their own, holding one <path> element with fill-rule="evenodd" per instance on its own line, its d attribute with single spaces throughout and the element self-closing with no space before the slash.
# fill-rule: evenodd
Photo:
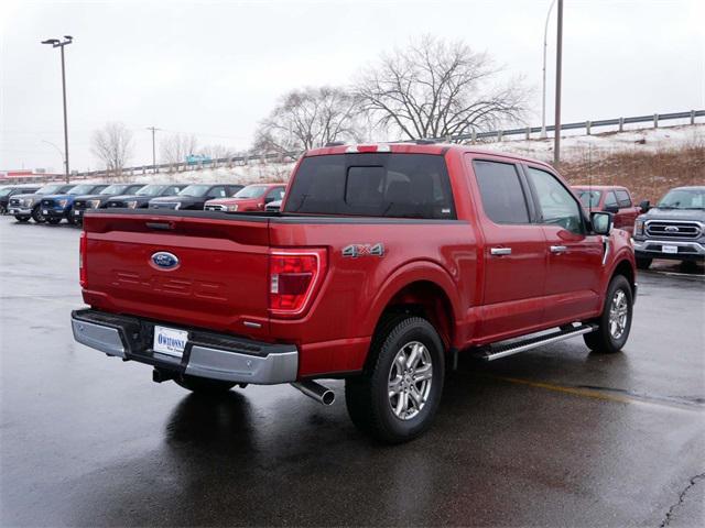
<svg viewBox="0 0 705 528">
<path fill-rule="evenodd" d="M 330 146 L 281 212 L 90 211 L 75 339 L 204 392 L 345 378 L 352 421 L 416 437 L 458 353 L 492 361 L 583 336 L 617 352 L 636 297 L 629 235 L 549 165 L 468 146 Z M 521 339 L 518 339 L 521 338 Z M 511 340 L 511 341 L 508 341 Z"/>
</svg>

